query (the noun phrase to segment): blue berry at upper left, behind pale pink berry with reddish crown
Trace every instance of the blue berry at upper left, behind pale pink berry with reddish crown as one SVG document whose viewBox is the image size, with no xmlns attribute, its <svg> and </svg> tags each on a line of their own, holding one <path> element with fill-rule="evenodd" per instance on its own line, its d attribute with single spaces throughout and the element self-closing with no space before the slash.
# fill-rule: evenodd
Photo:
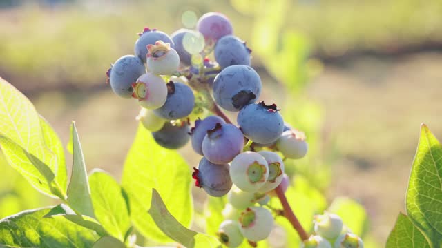
<svg viewBox="0 0 442 248">
<path fill-rule="evenodd" d="M 164 43 L 171 43 L 171 47 L 174 48 L 174 43 L 165 32 L 157 31 L 157 30 L 144 30 L 142 34 L 140 34 L 140 38 L 135 41 L 135 56 L 138 56 L 143 63 L 146 63 L 146 54 L 147 48 L 146 45 L 153 45 L 155 41 L 164 41 Z"/>
</svg>

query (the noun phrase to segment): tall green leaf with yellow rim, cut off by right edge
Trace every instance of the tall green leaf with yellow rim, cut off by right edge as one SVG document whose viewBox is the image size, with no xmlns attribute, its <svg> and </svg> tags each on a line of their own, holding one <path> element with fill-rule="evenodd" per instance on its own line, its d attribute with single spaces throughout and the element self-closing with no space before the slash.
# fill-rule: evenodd
<svg viewBox="0 0 442 248">
<path fill-rule="evenodd" d="M 442 243 L 442 147 L 428 127 L 421 126 L 421 136 L 406 197 L 407 215 L 431 247 Z"/>
</svg>

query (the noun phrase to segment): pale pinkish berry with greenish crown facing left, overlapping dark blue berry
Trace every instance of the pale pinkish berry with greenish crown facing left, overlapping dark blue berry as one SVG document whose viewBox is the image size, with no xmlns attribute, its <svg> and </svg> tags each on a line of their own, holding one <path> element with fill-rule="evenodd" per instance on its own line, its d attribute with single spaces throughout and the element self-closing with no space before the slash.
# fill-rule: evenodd
<svg viewBox="0 0 442 248">
<path fill-rule="evenodd" d="M 142 74 L 137 82 L 132 84 L 132 87 L 132 97 L 138 99 L 138 103 L 142 107 L 153 110 L 166 103 L 167 87 L 160 76 L 150 72 Z"/>
</svg>

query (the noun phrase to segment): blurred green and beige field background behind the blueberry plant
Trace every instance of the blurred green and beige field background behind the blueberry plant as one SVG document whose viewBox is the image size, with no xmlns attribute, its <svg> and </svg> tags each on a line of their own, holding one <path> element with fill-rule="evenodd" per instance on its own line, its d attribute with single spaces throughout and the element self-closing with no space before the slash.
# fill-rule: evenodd
<svg viewBox="0 0 442 248">
<path fill-rule="evenodd" d="M 385 243 L 404 211 L 420 123 L 442 137 L 442 1 L 0 0 L 0 76 L 64 143 L 77 121 L 88 169 L 119 178 L 139 108 L 111 92 L 105 72 L 133 54 L 144 26 L 171 34 L 185 11 L 231 19 L 253 50 L 261 99 L 307 134 L 309 156 L 293 173 L 329 202 L 358 200 L 370 237 Z M 180 152 L 191 166 L 199 160 L 189 146 Z M 0 218 L 50 202 L 3 158 L 0 171 Z M 205 196 L 194 194 L 201 210 Z"/>
</svg>

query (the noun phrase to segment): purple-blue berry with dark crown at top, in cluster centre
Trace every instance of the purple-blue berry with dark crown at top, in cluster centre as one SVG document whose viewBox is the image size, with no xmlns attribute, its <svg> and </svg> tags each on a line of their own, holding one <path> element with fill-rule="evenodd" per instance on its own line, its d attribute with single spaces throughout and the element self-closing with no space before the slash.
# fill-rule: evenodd
<svg viewBox="0 0 442 248">
<path fill-rule="evenodd" d="M 232 124 L 217 123 L 202 140 L 202 154 L 215 164 L 229 163 L 244 148 L 241 130 Z"/>
</svg>

